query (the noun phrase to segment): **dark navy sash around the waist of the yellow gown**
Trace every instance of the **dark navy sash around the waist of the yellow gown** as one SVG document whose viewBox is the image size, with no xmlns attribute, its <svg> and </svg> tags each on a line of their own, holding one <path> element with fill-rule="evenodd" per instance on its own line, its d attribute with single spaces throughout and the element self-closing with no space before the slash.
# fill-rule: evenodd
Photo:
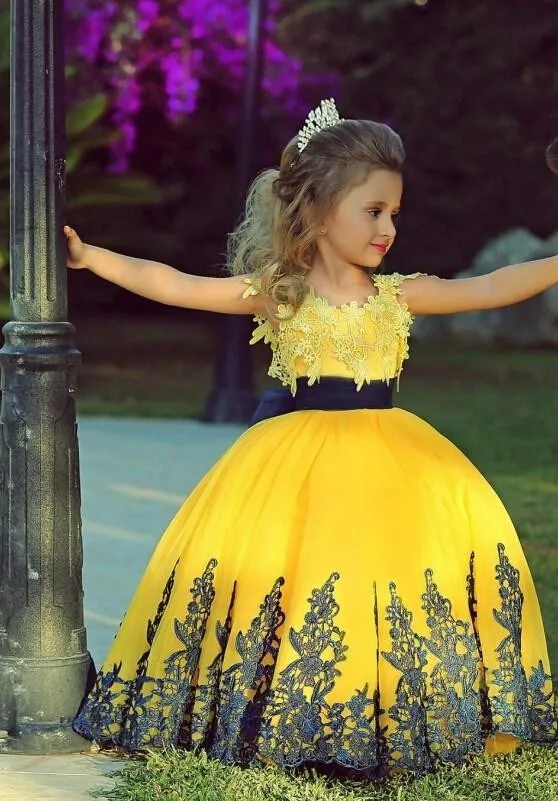
<svg viewBox="0 0 558 801">
<path fill-rule="evenodd" d="M 296 395 L 288 389 L 271 389 L 265 392 L 250 425 L 269 417 L 302 410 L 341 411 L 349 409 L 391 409 L 393 407 L 393 381 L 371 381 L 357 390 L 352 378 L 324 376 L 319 383 L 308 386 L 307 378 L 298 378 Z"/>
</svg>

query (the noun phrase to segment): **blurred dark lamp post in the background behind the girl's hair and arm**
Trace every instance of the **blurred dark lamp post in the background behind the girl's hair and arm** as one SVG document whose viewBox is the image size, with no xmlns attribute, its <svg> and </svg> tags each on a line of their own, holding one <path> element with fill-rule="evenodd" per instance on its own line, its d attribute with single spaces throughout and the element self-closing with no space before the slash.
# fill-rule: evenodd
<svg viewBox="0 0 558 801">
<path fill-rule="evenodd" d="M 239 210 L 243 207 L 253 171 L 265 10 L 266 0 L 250 0 L 246 85 L 236 180 Z M 251 319 L 241 315 L 224 315 L 220 321 L 213 389 L 204 414 L 207 422 L 245 423 L 252 416 L 256 398 L 248 345 L 251 325 Z"/>
</svg>

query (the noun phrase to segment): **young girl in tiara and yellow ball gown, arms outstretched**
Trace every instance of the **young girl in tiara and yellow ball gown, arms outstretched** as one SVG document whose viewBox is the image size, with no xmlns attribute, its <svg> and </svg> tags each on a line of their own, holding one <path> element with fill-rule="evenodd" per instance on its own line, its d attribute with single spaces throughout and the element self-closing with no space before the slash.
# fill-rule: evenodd
<svg viewBox="0 0 558 801">
<path fill-rule="evenodd" d="M 228 278 L 83 244 L 68 264 L 169 305 L 255 316 L 291 405 L 260 414 L 157 546 L 75 729 L 126 751 L 370 777 L 556 742 L 531 575 L 494 490 L 393 406 L 416 314 L 506 306 L 558 258 L 461 280 L 376 271 L 404 158 L 324 101 L 255 181 Z"/>
</svg>

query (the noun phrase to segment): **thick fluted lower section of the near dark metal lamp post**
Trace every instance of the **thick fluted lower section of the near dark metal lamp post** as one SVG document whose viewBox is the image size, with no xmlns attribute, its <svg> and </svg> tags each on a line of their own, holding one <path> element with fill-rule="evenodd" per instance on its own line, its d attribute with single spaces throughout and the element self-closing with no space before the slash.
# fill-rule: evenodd
<svg viewBox="0 0 558 801">
<path fill-rule="evenodd" d="M 3 333 L 0 731 L 13 751 L 79 751 L 71 722 L 92 673 L 74 407 L 80 354 L 67 322 L 10 322 Z"/>
</svg>

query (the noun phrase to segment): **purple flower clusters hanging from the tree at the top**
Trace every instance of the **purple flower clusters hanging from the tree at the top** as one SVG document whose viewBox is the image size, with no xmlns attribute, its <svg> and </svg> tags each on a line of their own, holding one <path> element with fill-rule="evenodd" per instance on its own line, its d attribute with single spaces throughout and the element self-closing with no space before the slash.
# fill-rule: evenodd
<svg viewBox="0 0 558 801">
<path fill-rule="evenodd" d="M 264 101 L 287 111 L 300 106 L 300 62 L 277 42 L 281 0 L 268 0 Z M 135 117 L 145 103 L 167 119 L 191 114 L 204 80 L 225 80 L 234 91 L 244 80 L 248 0 L 66 0 L 70 62 L 91 85 L 107 90 L 112 122 L 120 131 L 112 168 L 124 170 L 134 149 Z M 79 88 L 76 89 L 79 91 Z"/>
</svg>

